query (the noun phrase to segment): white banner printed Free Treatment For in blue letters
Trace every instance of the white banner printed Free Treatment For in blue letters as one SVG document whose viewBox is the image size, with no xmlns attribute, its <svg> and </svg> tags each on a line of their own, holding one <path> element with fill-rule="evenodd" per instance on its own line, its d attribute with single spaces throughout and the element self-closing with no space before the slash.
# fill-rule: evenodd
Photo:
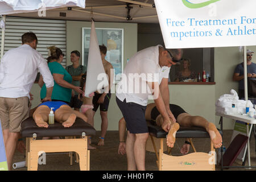
<svg viewBox="0 0 256 182">
<path fill-rule="evenodd" d="M 155 0 L 166 48 L 256 45 L 255 0 Z"/>
</svg>

